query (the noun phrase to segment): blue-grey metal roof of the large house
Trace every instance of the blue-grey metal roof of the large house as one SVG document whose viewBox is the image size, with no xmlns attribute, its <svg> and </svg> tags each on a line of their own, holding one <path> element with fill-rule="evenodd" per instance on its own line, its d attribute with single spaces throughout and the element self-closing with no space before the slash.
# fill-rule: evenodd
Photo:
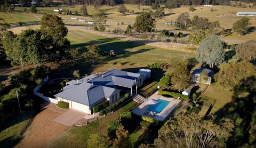
<svg viewBox="0 0 256 148">
<path fill-rule="evenodd" d="M 78 82 L 70 81 L 70 85 L 64 87 L 63 92 L 54 96 L 92 106 L 102 98 L 109 98 L 114 92 L 119 91 L 117 86 L 131 88 L 135 85 L 135 79 L 140 76 L 138 73 L 113 69 L 98 76 L 87 76 Z"/>
</svg>

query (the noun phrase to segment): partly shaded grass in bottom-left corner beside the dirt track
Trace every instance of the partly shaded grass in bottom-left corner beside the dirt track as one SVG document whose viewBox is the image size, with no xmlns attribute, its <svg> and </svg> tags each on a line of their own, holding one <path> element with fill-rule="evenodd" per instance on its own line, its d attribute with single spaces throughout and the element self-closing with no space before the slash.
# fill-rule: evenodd
<svg viewBox="0 0 256 148">
<path fill-rule="evenodd" d="M 13 147 L 17 142 L 19 142 L 34 114 L 34 110 L 21 113 L 17 118 L 13 118 L 12 121 L 8 122 L 0 132 L 0 147 Z"/>
</svg>

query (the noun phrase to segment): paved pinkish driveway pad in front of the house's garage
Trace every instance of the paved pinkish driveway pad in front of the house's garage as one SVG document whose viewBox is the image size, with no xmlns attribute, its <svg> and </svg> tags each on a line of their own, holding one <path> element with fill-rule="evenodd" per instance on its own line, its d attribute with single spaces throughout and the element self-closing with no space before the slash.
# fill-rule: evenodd
<svg viewBox="0 0 256 148">
<path fill-rule="evenodd" d="M 83 113 L 81 111 L 70 109 L 67 112 L 61 114 L 59 117 L 55 118 L 54 121 L 66 126 L 72 126 L 86 115 L 86 113 Z"/>
</svg>

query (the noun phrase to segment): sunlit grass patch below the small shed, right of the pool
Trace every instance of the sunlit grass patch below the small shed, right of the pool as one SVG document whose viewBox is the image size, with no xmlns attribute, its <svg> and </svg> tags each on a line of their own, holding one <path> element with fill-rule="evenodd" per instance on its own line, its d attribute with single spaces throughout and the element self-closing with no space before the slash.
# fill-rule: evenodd
<svg viewBox="0 0 256 148">
<path fill-rule="evenodd" d="M 198 91 L 201 89 L 199 88 Z M 199 93 L 199 92 L 198 92 Z M 218 83 L 213 83 L 207 87 L 205 92 L 202 94 L 203 96 L 211 97 L 217 100 L 211 110 L 210 113 L 215 113 L 227 103 L 232 101 L 233 92 L 224 91 L 222 92 L 222 88 Z"/>
</svg>

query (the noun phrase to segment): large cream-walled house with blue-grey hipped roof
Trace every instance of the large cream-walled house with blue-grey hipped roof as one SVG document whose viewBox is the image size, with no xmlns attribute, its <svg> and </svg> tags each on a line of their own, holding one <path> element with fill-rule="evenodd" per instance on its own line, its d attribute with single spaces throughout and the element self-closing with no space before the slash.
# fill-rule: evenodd
<svg viewBox="0 0 256 148">
<path fill-rule="evenodd" d="M 106 99 L 110 105 L 119 100 L 121 92 L 137 94 L 137 88 L 143 85 L 143 75 L 113 69 L 66 84 L 63 92 L 54 95 L 57 100 L 68 102 L 71 109 L 92 114 L 94 105 Z"/>
</svg>

